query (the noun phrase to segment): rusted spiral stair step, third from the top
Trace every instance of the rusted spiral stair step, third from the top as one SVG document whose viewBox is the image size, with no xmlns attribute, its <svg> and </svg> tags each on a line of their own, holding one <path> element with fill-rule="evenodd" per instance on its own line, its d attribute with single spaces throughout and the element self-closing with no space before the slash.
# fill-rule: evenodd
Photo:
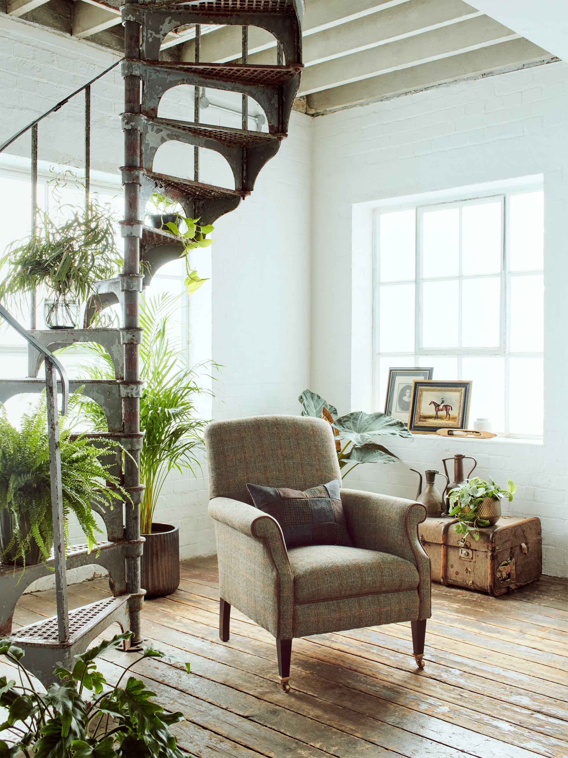
<svg viewBox="0 0 568 758">
<path fill-rule="evenodd" d="M 158 148 L 171 140 L 214 150 L 226 158 L 237 189 L 252 192 L 254 181 L 270 158 L 278 152 L 286 134 L 267 134 L 229 127 L 193 124 L 167 118 L 123 115 L 123 128 L 136 127 L 142 133 L 142 166 L 151 170 Z"/>
</svg>

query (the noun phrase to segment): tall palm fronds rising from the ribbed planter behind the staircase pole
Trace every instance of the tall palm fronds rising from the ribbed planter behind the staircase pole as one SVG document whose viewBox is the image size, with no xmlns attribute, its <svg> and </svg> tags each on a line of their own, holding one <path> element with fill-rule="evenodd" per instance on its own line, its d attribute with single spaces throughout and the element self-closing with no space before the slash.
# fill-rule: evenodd
<svg viewBox="0 0 568 758">
<path fill-rule="evenodd" d="M 140 431 L 144 433 L 140 451 L 140 481 L 144 499 L 140 506 L 140 531 L 151 534 L 154 510 L 164 481 L 172 469 L 180 473 L 199 466 L 198 450 L 204 448 L 207 421 L 195 417 L 194 398 L 204 392 L 197 384 L 197 369 L 183 365 L 185 356 L 167 337 L 179 296 L 162 294 L 140 301 L 140 378 L 144 389 L 140 398 Z M 84 348 L 84 346 L 83 346 Z M 89 344 L 98 365 L 81 365 L 80 374 L 94 379 L 114 378 L 111 357 L 101 346 Z M 81 410 L 92 426 L 101 431 L 106 421 L 100 406 L 84 399 Z"/>
</svg>

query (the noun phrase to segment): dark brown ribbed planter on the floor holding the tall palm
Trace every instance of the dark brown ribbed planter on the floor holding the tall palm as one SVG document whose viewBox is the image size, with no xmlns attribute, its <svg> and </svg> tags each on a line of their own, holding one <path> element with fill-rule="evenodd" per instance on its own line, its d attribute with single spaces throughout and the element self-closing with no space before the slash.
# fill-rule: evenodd
<svg viewBox="0 0 568 758">
<path fill-rule="evenodd" d="M 164 597 L 179 587 L 179 529 L 170 524 L 152 524 L 140 560 L 140 586 L 145 597 Z"/>
</svg>

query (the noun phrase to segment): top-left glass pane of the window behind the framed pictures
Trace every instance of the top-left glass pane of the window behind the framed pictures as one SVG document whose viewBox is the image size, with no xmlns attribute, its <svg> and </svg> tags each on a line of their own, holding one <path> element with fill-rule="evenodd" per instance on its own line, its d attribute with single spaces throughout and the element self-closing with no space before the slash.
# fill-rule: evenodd
<svg viewBox="0 0 568 758">
<path fill-rule="evenodd" d="M 380 277 L 382 282 L 414 279 L 416 266 L 416 211 L 379 216 Z"/>
</svg>

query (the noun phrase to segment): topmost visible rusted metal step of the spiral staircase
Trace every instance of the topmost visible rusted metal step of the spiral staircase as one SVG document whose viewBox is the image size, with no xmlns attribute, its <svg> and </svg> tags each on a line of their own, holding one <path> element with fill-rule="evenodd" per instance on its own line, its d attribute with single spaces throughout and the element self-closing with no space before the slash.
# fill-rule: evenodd
<svg viewBox="0 0 568 758">
<path fill-rule="evenodd" d="M 287 63 L 301 61 L 302 0 L 198 0 L 127 5 L 122 20 L 142 25 L 142 58 L 157 61 L 165 36 L 188 24 L 261 27 L 280 45 Z"/>
</svg>

